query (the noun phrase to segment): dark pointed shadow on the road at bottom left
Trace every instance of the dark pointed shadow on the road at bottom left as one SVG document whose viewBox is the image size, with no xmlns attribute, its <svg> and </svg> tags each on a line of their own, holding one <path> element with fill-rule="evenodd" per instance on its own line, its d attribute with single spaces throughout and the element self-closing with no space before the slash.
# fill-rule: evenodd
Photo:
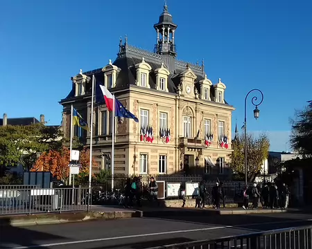
<svg viewBox="0 0 312 249">
<path fill-rule="evenodd" d="M 45 241 L 53 241 L 53 239 L 62 239 L 63 237 L 55 236 L 45 232 L 37 232 L 31 230 L 31 227 L 17 228 L 8 225 L 9 220 L 0 219 L 0 248 L 15 248 L 19 246 L 36 246 L 36 248 L 44 248 L 39 246 Z M 5 231 L 2 232 L 2 231 Z M 4 236 L 5 234 L 5 236 Z"/>
</svg>

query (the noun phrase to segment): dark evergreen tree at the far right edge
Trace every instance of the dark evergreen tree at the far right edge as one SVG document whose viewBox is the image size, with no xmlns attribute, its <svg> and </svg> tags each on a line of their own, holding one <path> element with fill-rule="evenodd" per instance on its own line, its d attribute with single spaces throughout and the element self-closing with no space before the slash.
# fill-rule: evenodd
<svg viewBox="0 0 312 249">
<path fill-rule="evenodd" d="M 295 113 L 292 122 L 291 146 L 304 158 L 312 157 L 312 100 L 303 111 Z"/>
</svg>

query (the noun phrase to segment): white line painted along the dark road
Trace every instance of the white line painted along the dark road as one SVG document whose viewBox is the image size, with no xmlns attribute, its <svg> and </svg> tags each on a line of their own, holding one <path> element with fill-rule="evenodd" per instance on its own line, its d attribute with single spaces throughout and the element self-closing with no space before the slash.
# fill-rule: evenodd
<svg viewBox="0 0 312 249">
<path fill-rule="evenodd" d="M 175 221 L 175 220 L 170 220 L 170 221 Z M 275 222 L 253 223 L 253 224 L 242 224 L 242 225 L 223 225 L 223 226 L 216 226 L 213 228 L 198 228 L 198 229 L 190 229 L 190 230 L 155 232 L 155 233 L 150 233 L 150 234 L 135 234 L 135 235 L 101 238 L 101 239 L 87 239 L 87 240 L 80 240 L 80 241 L 49 243 L 49 244 L 34 245 L 34 246 L 17 246 L 15 248 L 11 248 L 11 249 L 30 249 L 30 248 L 49 247 L 49 246 L 66 246 L 66 245 L 72 245 L 72 244 L 78 244 L 78 243 L 110 241 L 110 240 L 116 240 L 116 239 L 131 239 L 131 238 L 139 238 L 139 237 L 157 236 L 157 235 L 163 235 L 163 234 L 177 234 L 177 233 L 183 233 L 183 232 L 200 232 L 200 231 L 208 231 L 208 230 L 217 230 L 217 229 L 221 229 L 221 228 L 241 228 L 241 227 L 248 227 L 248 226 L 252 226 L 252 225 L 272 225 L 272 224 L 296 223 L 296 222 L 300 223 L 300 222 L 304 222 L 304 221 L 312 221 L 312 219 L 294 220 L 294 221 L 275 221 Z M 183 222 L 183 221 L 180 221 L 180 222 Z M 204 224 L 205 223 L 202 223 L 202 225 L 204 225 Z M 209 224 L 205 224 L 205 225 L 209 225 Z"/>
</svg>

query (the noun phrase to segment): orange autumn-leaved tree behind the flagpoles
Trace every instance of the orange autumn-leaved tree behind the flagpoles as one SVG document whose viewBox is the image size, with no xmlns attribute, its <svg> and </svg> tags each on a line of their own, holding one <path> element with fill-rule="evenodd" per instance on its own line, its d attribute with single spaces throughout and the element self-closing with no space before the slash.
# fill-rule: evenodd
<svg viewBox="0 0 312 249">
<path fill-rule="evenodd" d="M 50 150 L 44 152 L 35 162 L 31 172 L 51 172 L 53 177 L 58 180 L 67 182 L 69 180 L 69 154 L 70 151 L 67 147 L 62 147 L 60 150 Z M 80 152 L 80 172 L 89 172 L 89 149 L 84 148 Z M 92 165 L 96 165 L 92 159 Z"/>
</svg>

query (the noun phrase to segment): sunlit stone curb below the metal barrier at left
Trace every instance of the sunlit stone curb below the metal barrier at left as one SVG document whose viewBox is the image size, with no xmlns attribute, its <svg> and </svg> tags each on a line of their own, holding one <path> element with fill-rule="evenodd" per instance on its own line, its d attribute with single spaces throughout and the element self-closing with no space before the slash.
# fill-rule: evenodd
<svg viewBox="0 0 312 249">
<path fill-rule="evenodd" d="M 134 211 L 116 211 L 116 212 L 67 212 L 61 214 L 34 214 L 31 216 L 10 216 L 0 218 L 0 227 L 10 225 L 13 227 L 22 227 L 28 225 L 51 225 L 60 223 L 72 223 L 92 221 L 96 219 L 114 220 L 127 218 L 141 218 L 143 212 Z"/>
</svg>

